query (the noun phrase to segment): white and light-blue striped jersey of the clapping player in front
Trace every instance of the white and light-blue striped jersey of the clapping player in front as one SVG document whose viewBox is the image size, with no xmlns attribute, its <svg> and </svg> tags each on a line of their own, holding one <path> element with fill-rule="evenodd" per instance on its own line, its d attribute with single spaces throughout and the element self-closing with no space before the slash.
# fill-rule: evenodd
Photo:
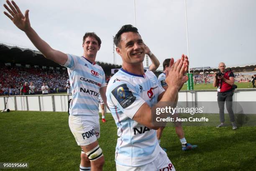
<svg viewBox="0 0 256 171">
<path fill-rule="evenodd" d="M 156 131 L 133 121 L 133 116 L 143 103 L 151 107 L 156 104 L 163 92 L 164 89 L 150 70 L 136 75 L 121 68 L 110 79 L 106 96 L 118 127 L 116 163 L 142 166 L 154 161 L 159 154 L 161 147 L 156 139 Z"/>
</svg>

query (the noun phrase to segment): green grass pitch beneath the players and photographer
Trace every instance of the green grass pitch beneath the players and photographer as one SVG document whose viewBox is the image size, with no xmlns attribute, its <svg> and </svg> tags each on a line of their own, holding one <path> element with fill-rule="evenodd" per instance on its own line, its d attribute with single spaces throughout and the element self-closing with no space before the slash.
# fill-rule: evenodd
<svg viewBox="0 0 256 171">
<path fill-rule="evenodd" d="M 114 171 L 117 128 L 110 113 L 106 120 L 100 121 L 99 143 L 104 171 Z M 182 151 L 173 127 L 166 127 L 161 138 L 176 170 L 255 170 L 256 127 L 233 131 L 231 126 L 184 126 L 184 132 L 187 141 L 198 148 Z M 0 113 L 0 137 L 0 162 L 28 162 L 31 171 L 79 170 L 80 148 L 69 130 L 67 113 Z"/>
</svg>

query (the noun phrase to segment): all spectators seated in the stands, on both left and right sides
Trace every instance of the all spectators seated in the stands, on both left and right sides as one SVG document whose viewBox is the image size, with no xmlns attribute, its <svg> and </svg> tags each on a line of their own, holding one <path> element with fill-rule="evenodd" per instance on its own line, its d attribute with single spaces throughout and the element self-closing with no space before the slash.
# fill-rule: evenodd
<svg viewBox="0 0 256 171">
<path fill-rule="evenodd" d="M 49 93 L 67 91 L 68 73 L 66 69 L 26 68 L 24 66 L 5 66 L 3 63 L 0 66 L 0 96 L 20 95 L 20 89 L 26 82 L 29 86 L 31 86 L 31 82 L 33 83 L 35 92 L 42 91 L 41 87 L 44 83 L 49 87 Z M 235 73 L 234 75 L 236 82 L 251 81 L 250 75 L 244 75 L 243 73 Z M 111 76 L 106 75 L 106 81 Z M 214 74 L 211 73 L 196 73 L 194 77 L 195 84 L 212 83 L 213 80 Z"/>
</svg>

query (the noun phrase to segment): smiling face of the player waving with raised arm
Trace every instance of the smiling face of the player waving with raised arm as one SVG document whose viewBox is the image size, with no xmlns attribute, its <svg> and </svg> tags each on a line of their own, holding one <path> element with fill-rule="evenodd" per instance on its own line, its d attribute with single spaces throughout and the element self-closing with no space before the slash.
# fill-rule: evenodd
<svg viewBox="0 0 256 171">
<path fill-rule="evenodd" d="M 84 48 L 84 57 L 90 59 L 94 58 L 95 60 L 97 52 L 100 50 L 97 40 L 94 37 L 88 36 L 82 46 Z"/>
</svg>

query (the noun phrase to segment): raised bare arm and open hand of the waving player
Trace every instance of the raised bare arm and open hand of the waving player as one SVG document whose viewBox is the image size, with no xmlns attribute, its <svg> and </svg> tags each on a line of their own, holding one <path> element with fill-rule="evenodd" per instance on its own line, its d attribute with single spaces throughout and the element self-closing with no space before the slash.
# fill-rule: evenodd
<svg viewBox="0 0 256 171">
<path fill-rule="evenodd" d="M 26 33 L 28 38 L 31 40 L 31 42 L 36 46 L 36 48 L 45 56 L 45 58 L 53 60 L 56 63 L 59 63 L 60 65 L 64 65 L 67 62 L 67 55 L 65 53 L 62 53 L 59 50 L 54 50 L 49 46 L 48 43 L 46 43 L 44 40 L 42 40 L 39 35 L 36 33 L 35 30 L 30 25 L 28 12 L 29 10 L 26 10 L 25 15 L 21 13 L 18 5 L 14 1 L 6 0 L 6 3 L 9 5 L 4 4 L 5 9 L 10 13 L 4 12 L 4 14 L 10 18 L 10 20 L 13 21 L 13 23 L 22 31 Z"/>
</svg>

